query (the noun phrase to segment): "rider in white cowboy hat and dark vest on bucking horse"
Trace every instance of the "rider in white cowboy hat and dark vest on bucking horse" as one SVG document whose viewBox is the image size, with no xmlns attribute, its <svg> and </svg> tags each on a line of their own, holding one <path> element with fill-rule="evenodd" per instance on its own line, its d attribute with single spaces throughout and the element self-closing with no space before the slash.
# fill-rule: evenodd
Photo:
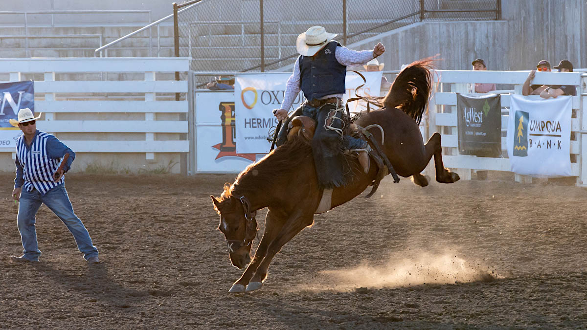
<svg viewBox="0 0 587 330">
<path fill-rule="evenodd" d="M 344 134 L 349 120 L 342 103 L 346 67 L 363 65 L 385 52 L 381 43 L 373 50 L 351 50 L 333 41 L 335 36 L 335 33 L 326 33 L 322 26 L 312 26 L 298 36 L 296 49 L 300 56 L 286 84 L 281 108 L 273 110 L 278 120 L 286 119 L 289 107 L 302 90 L 305 100 L 294 114 L 316 120 L 313 157 L 318 183 L 321 188 L 328 189 L 345 186 L 350 179 L 347 174 L 352 171 L 343 169 L 346 164 L 343 149 L 365 151 L 359 152 L 359 162 L 365 171 L 368 170 L 364 165 L 369 163 L 368 144 Z M 286 128 L 281 132 L 285 131 Z"/>
</svg>

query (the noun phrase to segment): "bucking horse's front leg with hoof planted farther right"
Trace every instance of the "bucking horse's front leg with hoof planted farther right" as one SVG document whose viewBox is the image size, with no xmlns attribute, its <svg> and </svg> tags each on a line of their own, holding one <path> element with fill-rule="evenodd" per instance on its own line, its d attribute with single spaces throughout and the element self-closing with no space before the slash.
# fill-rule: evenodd
<svg viewBox="0 0 587 330">
<path fill-rule="evenodd" d="M 265 255 L 265 258 L 259 264 L 255 276 L 251 278 L 249 285 L 247 285 L 247 291 L 255 291 L 263 286 L 263 281 L 267 277 L 267 270 L 269 264 L 273 260 L 273 257 L 281 251 L 285 243 L 288 243 L 295 235 L 297 235 L 303 228 L 312 225 L 314 221 L 313 214 L 301 215 L 298 217 L 292 217 L 290 220 L 281 228 L 277 237 L 269 244 L 269 248 Z"/>
</svg>

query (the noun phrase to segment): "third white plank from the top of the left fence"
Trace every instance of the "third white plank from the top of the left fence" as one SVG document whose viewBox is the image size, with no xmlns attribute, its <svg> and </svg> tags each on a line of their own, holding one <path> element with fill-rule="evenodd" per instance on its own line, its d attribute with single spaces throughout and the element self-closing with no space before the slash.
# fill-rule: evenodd
<svg viewBox="0 0 587 330">
<path fill-rule="evenodd" d="M 36 101 L 35 111 L 186 113 L 187 101 Z"/>
</svg>

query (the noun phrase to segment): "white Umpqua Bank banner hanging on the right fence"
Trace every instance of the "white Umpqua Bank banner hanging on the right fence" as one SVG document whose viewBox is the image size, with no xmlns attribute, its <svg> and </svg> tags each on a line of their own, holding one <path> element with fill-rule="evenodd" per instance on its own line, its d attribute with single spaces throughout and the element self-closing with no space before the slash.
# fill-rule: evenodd
<svg viewBox="0 0 587 330">
<path fill-rule="evenodd" d="M 511 171 L 537 177 L 571 176 L 571 96 L 511 95 L 507 147 Z"/>
</svg>

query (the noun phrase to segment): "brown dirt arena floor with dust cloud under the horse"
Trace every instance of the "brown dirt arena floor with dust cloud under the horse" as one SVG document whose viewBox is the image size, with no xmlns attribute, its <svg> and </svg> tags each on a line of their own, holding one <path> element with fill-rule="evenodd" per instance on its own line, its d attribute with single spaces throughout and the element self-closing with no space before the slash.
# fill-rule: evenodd
<svg viewBox="0 0 587 330">
<path fill-rule="evenodd" d="M 210 194 L 234 175 L 72 174 L 73 207 L 103 261 L 88 267 L 43 206 L 42 262 L 10 262 L 22 246 L 5 197 L 0 327 L 584 329 L 587 191 L 489 177 L 428 187 L 386 178 L 376 196 L 316 215 L 276 255 L 264 288 L 228 294 L 241 271 Z M 1 178 L 11 191 L 14 177 Z"/>
</svg>

